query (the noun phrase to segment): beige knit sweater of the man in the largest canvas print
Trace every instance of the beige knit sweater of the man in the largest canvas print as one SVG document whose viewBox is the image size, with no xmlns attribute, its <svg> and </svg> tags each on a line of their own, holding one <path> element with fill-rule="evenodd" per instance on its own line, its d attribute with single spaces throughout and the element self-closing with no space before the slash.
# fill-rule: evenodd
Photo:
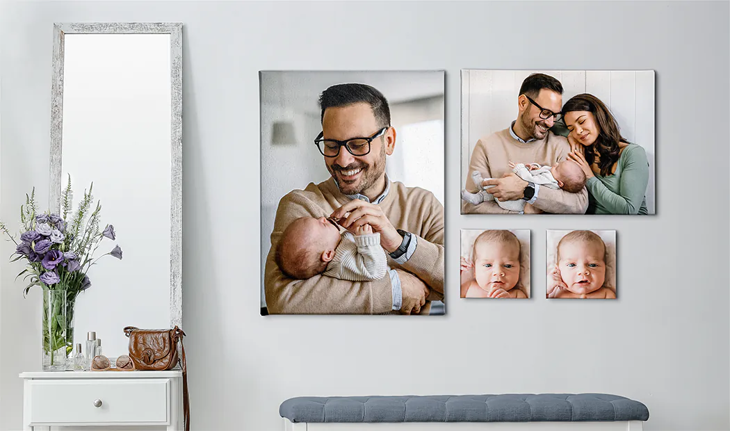
<svg viewBox="0 0 730 431">
<path fill-rule="evenodd" d="M 279 202 L 271 248 L 266 258 L 264 291 L 272 314 L 382 314 L 393 308 L 390 277 L 378 281 L 343 281 L 326 275 L 308 280 L 287 278 L 274 262 L 281 234 L 295 218 L 329 216 L 350 198 L 339 191 L 332 178 L 310 183 L 304 190 L 289 192 Z M 383 213 L 397 229 L 418 237 L 417 247 L 403 265 L 388 256 L 391 268 L 401 268 L 423 280 L 432 290 L 431 300 L 442 299 L 444 291 L 444 210 L 430 191 L 392 182 L 388 196 L 380 202 Z M 430 303 L 421 308 L 427 313 Z"/>
</svg>

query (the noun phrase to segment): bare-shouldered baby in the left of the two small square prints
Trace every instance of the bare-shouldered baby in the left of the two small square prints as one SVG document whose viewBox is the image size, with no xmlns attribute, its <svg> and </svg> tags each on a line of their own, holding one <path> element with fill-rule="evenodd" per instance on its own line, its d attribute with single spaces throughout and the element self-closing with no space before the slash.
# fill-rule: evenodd
<svg viewBox="0 0 730 431">
<path fill-rule="evenodd" d="M 520 281 L 520 240 L 508 230 L 488 230 L 474 241 L 475 280 L 461 285 L 466 298 L 526 298 Z"/>
</svg>

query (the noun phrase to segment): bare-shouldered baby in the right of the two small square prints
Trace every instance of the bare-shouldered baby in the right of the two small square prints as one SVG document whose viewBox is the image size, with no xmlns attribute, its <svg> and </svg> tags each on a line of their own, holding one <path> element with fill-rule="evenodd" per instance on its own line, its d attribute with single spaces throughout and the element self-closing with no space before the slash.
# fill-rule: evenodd
<svg viewBox="0 0 730 431">
<path fill-rule="evenodd" d="M 603 286 L 606 279 L 606 244 L 594 232 L 577 230 L 558 243 L 548 298 L 613 299 L 616 294 Z"/>
</svg>

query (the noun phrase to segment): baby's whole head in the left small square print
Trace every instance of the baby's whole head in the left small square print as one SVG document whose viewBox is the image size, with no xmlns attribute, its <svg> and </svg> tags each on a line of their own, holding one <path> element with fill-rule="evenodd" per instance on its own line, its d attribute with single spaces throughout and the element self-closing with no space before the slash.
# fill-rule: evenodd
<svg viewBox="0 0 730 431">
<path fill-rule="evenodd" d="M 488 230 L 474 241 L 474 274 L 485 291 L 509 291 L 520 281 L 520 240 L 508 230 Z"/>
</svg>

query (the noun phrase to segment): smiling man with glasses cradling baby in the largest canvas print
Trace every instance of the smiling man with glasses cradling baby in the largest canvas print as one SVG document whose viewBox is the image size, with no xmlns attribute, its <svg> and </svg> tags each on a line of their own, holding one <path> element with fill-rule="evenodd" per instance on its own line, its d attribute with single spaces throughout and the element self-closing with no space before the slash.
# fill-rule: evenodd
<svg viewBox="0 0 730 431">
<path fill-rule="evenodd" d="M 322 132 L 313 151 L 331 178 L 289 192 L 279 202 L 264 290 L 269 313 L 428 313 L 444 291 L 444 215 L 430 191 L 407 188 L 385 174 L 396 146 L 388 101 L 369 85 L 340 84 L 320 96 Z M 315 275 L 287 278 L 277 267 L 278 247 L 296 218 L 328 217 L 355 232 L 369 224 L 380 234 L 391 270 L 379 281 L 353 282 Z M 286 256 L 291 257 L 291 256 Z"/>
</svg>

